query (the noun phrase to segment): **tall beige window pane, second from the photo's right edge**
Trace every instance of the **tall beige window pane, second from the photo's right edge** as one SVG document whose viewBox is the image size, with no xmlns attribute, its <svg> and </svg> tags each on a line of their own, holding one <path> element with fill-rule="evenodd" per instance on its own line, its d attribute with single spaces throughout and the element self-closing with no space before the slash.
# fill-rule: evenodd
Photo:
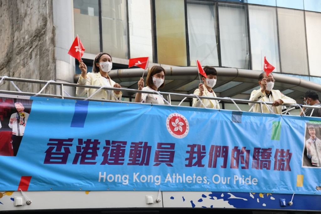
<svg viewBox="0 0 321 214">
<path fill-rule="evenodd" d="M 304 11 L 277 8 L 282 73 L 308 75 Z"/>
</svg>

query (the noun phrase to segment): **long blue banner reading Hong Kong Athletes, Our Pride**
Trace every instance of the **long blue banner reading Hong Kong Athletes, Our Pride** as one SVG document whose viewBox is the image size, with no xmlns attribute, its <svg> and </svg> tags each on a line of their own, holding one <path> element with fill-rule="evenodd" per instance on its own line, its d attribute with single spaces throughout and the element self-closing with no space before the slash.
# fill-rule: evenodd
<svg viewBox="0 0 321 214">
<path fill-rule="evenodd" d="M 0 191 L 321 195 L 319 118 L 31 99 L 16 156 L 0 156 Z"/>
</svg>

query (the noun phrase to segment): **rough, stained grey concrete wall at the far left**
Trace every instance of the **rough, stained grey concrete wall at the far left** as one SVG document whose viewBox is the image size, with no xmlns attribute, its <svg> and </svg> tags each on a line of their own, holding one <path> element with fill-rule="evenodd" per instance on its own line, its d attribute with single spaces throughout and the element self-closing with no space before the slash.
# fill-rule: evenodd
<svg viewBox="0 0 321 214">
<path fill-rule="evenodd" d="M 55 80 L 55 28 L 51 0 L 0 0 L 0 75 Z M 44 85 L 14 82 L 22 91 Z M 16 90 L 4 81 L 1 90 Z M 53 86 L 45 93 L 54 93 Z"/>
</svg>

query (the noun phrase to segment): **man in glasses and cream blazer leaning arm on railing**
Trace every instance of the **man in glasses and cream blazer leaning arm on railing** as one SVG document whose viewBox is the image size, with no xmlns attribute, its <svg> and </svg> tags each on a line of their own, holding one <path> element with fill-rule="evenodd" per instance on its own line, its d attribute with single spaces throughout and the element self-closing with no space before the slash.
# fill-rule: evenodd
<svg viewBox="0 0 321 214">
<path fill-rule="evenodd" d="M 266 76 L 265 72 L 262 72 L 259 76 L 259 85 L 261 88 L 259 90 L 253 90 L 251 93 L 250 100 L 258 101 L 262 100 L 264 102 L 272 102 L 272 106 L 269 107 L 275 114 L 282 113 L 282 104 L 296 104 L 297 102 L 285 96 L 279 90 L 273 90 L 274 78 L 272 73 Z M 253 106 L 253 112 L 261 112 L 259 104 L 249 103 L 248 105 Z M 262 104 L 263 113 L 273 113 L 265 104 Z"/>
</svg>

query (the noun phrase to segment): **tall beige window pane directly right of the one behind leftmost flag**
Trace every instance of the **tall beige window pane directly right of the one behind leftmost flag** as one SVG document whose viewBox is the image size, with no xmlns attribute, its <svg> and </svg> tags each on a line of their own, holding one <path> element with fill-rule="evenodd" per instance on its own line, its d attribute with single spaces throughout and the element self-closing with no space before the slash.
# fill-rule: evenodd
<svg viewBox="0 0 321 214">
<path fill-rule="evenodd" d="M 101 0 L 103 52 L 122 59 L 128 59 L 126 10 L 126 1 Z"/>
</svg>

